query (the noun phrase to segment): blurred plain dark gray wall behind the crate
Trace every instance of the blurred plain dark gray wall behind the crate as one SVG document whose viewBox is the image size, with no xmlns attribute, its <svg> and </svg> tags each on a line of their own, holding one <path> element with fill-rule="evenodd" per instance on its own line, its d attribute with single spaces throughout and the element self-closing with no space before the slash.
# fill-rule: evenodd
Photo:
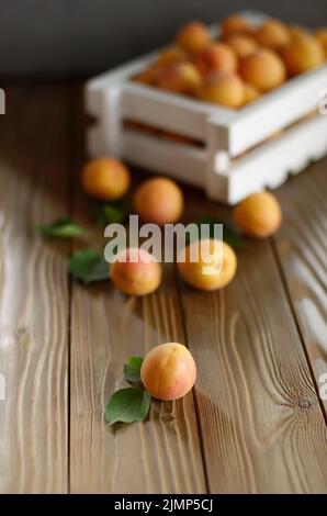
<svg viewBox="0 0 327 516">
<path fill-rule="evenodd" d="M 241 9 L 327 25 L 327 0 L 1 0 L 0 76 L 87 77 Z"/>
</svg>

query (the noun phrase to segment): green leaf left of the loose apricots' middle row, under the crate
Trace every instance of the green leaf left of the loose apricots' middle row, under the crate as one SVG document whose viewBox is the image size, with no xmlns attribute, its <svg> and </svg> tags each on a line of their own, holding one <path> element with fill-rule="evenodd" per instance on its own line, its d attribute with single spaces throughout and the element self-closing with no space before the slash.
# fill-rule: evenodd
<svg viewBox="0 0 327 516">
<path fill-rule="evenodd" d="M 110 266 L 104 256 L 92 249 L 83 249 L 75 253 L 69 261 L 69 270 L 74 278 L 83 283 L 108 280 Z"/>
</svg>

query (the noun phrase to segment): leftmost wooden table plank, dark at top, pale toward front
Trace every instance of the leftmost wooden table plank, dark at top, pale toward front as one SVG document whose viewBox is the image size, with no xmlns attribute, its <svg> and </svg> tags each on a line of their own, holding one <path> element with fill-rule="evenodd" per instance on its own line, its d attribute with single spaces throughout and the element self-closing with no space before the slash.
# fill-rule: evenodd
<svg viewBox="0 0 327 516">
<path fill-rule="evenodd" d="M 1 493 L 65 493 L 68 486 L 67 246 L 31 231 L 66 213 L 60 99 L 49 87 L 8 89 L 0 117 Z"/>
</svg>

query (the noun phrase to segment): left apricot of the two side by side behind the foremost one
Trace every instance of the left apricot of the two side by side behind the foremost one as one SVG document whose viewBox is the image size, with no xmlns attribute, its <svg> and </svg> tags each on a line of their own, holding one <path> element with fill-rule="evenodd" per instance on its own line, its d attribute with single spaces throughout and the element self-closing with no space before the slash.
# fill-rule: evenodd
<svg viewBox="0 0 327 516">
<path fill-rule="evenodd" d="M 137 247 L 121 251 L 111 266 L 114 285 L 127 295 L 146 295 L 158 289 L 161 266 L 153 255 Z"/>
</svg>

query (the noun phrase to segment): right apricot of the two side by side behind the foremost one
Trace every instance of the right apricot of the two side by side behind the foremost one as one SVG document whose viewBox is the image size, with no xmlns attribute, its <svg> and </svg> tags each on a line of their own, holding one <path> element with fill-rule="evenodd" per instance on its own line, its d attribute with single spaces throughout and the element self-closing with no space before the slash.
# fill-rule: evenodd
<svg viewBox="0 0 327 516">
<path fill-rule="evenodd" d="M 187 283 L 199 290 L 213 291 L 233 280 L 237 259 L 228 244 L 211 238 L 190 244 L 184 256 L 179 256 L 177 267 Z"/>
</svg>

